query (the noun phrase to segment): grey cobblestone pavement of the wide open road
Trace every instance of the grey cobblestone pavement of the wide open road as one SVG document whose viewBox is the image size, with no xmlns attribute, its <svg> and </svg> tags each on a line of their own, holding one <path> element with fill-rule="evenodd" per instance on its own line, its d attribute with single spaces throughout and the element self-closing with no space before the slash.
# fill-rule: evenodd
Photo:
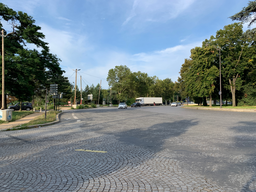
<svg viewBox="0 0 256 192">
<path fill-rule="evenodd" d="M 254 114 L 66 111 L 0 132 L 0 191 L 256 191 Z"/>
</svg>

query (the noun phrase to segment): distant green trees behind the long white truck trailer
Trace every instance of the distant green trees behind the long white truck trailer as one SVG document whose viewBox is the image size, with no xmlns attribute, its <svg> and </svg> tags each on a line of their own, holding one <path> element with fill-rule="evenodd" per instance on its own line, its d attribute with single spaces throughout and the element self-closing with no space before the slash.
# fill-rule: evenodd
<svg viewBox="0 0 256 192">
<path fill-rule="evenodd" d="M 114 98 L 118 101 L 134 100 L 136 97 L 162 97 L 163 100 L 173 100 L 175 94 L 171 79 L 160 80 L 140 71 L 131 72 L 125 65 L 110 69 L 107 81 L 116 93 Z"/>
</svg>

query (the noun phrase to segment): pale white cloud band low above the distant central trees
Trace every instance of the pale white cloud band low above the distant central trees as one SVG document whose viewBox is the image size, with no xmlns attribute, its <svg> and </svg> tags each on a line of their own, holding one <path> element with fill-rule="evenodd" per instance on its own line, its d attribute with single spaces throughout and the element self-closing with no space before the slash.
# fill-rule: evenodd
<svg viewBox="0 0 256 192">
<path fill-rule="evenodd" d="M 149 76 L 156 75 L 160 79 L 171 78 L 176 81 L 179 76 L 181 65 L 186 58 L 190 56 L 190 50 L 196 46 L 201 46 L 202 41 L 198 41 L 187 45 L 177 45 L 163 50 L 156 50 L 149 53 L 128 54 L 118 51 L 104 51 L 101 53 L 94 53 L 94 66 L 88 67 L 88 61 L 79 64 L 81 71 L 80 75 L 83 79 L 91 85 L 98 84 L 102 80 L 102 87 L 107 89 L 108 83 L 106 81 L 108 71 L 111 68 L 119 65 L 126 65 L 132 72 L 145 72 Z M 71 68 L 66 70 L 66 76 L 71 76 L 73 71 Z M 74 82 L 75 76 L 70 79 Z M 78 83 L 80 86 L 80 83 Z M 85 84 L 83 82 L 83 87 Z"/>
</svg>

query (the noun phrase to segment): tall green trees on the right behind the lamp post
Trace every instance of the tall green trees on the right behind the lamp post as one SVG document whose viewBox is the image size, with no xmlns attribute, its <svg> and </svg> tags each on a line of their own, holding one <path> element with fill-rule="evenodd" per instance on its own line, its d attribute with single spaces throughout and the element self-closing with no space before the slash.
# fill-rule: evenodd
<svg viewBox="0 0 256 192">
<path fill-rule="evenodd" d="M 250 2 L 248 7 L 231 18 L 252 19 L 249 23 L 252 24 L 255 18 L 250 13 L 255 12 L 256 1 Z M 204 101 L 208 97 L 211 105 L 212 98 L 219 98 L 221 69 L 223 98 L 231 99 L 233 106 L 256 105 L 255 32 L 255 29 L 243 31 L 242 23 L 230 24 L 206 39 L 202 47 L 193 48 L 176 83 L 182 97 L 204 98 Z"/>
</svg>

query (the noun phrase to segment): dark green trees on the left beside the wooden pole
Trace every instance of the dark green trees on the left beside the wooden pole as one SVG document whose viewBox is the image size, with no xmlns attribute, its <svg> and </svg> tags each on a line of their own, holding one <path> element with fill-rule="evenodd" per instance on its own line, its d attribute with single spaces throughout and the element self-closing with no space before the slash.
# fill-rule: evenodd
<svg viewBox="0 0 256 192">
<path fill-rule="evenodd" d="M 40 32 L 40 26 L 35 25 L 35 20 L 3 3 L 0 3 L 0 19 L 0 30 L 7 35 L 4 38 L 6 89 L 1 94 L 15 96 L 20 101 L 31 101 L 33 97 L 44 97 L 50 84 L 56 83 L 59 84 L 59 91 L 70 94 L 66 95 L 70 97 L 70 91 L 67 92 L 70 83 L 63 76 L 60 59 L 50 53 L 45 36 Z"/>
</svg>

